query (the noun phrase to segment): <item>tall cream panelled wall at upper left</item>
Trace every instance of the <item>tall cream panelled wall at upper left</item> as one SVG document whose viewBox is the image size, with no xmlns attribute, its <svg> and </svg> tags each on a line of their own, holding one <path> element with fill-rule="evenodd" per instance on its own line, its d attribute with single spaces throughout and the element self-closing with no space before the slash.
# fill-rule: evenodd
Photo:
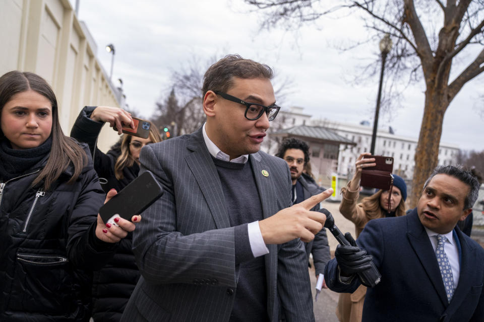
<svg viewBox="0 0 484 322">
<path fill-rule="evenodd" d="M 96 59 L 96 45 L 67 0 L 0 0 L 0 75 L 10 70 L 39 74 L 52 86 L 59 121 L 69 135 L 85 105 L 119 106 Z M 117 140 L 109 127 L 99 147 Z"/>
</svg>

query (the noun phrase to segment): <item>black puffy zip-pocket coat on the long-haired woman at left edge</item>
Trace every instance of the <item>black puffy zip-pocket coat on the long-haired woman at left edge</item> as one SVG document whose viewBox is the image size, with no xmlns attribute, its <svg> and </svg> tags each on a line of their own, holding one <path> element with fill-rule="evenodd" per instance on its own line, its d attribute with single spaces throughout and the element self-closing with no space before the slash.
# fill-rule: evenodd
<svg viewBox="0 0 484 322">
<path fill-rule="evenodd" d="M 0 321 L 88 320 L 92 270 L 112 258 L 94 234 L 104 194 L 90 155 L 73 184 L 68 168 L 48 191 L 32 188 L 46 161 L 0 178 Z"/>
</svg>

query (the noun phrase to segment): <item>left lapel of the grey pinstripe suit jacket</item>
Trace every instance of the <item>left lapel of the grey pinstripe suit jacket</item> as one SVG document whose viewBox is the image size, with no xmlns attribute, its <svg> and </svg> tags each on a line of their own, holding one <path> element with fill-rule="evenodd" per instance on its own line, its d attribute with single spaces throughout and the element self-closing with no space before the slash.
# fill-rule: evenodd
<svg viewBox="0 0 484 322">
<path fill-rule="evenodd" d="M 230 219 L 217 169 L 203 140 L 202 129 L 190 136 L 187 148 L 192 151 L 185 159 L 200 187 L 217 229 L 230 227 Z"/>
</svg>

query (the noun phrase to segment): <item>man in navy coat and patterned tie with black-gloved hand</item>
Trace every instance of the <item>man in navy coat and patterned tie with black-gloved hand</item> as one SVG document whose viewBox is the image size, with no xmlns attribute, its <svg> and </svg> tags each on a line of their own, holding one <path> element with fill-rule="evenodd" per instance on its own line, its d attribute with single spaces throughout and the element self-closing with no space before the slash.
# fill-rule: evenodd
<svg viewBox="0 0 484 322">
<path fill-rule="evenodd" d="M 368 288 L 363 321 L 482 321 L 484 250 L 456 227 L 472 211 L 478 189 L 460 166 L 437 167 L 412 212 L 370 220 L 358 247 L 338 246 L 326 284 L 354 291 L 355 274 L 373 256 L 382 277 Z"/>
</svg>

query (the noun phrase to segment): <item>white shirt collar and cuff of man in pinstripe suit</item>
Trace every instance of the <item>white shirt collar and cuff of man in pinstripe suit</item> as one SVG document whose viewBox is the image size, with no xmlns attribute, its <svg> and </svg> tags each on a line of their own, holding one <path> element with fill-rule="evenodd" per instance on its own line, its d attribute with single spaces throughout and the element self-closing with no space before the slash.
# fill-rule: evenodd
<svg viewBox="0 0 484 322">
<path fill-rule="evenodd" d="M 215 145 L 215 143 L 213 143 L 213 141 L 208 137 L 207 131 L 205 130 L 205 124 L 207 123 L 204 123 L 202 127 L 203 139 L 205 141 L 205 145 L 207 145 L 208 151 L 213 157 L 234 163 L 246 163 L 249 160 L 249 154 L 240 155 L 239 157 L 230 160 L 230 156 L 220 150 L 218 146 Z M 247 228 L 249 232 L 249 242 L 251 244 L 251 250 L 254 257 L 269 254 L 269 249 L 264 243 L 264 238 L 262 238 L 259 221 L 249 223 Z"/>
</svg>

